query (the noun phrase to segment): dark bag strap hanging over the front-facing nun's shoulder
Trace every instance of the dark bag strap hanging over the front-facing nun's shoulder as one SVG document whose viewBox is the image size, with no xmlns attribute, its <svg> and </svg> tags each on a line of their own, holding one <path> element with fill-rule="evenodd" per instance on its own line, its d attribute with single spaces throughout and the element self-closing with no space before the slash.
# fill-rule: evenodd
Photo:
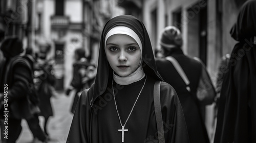
<svg viewBox="0 0 256 143">
<path fill-rule="evenodd" d="M 160 85 L 161 81 L 156 81 L 154 85 L 154 106 L 155 106 L 155 114 L 157 121 L 157 131 L 158 131 L 158 142 L 164 143 L 164 131 L 163 131 L 163 118 L 161 111 L 161 102 L 160 102 Z"/>
</svg>

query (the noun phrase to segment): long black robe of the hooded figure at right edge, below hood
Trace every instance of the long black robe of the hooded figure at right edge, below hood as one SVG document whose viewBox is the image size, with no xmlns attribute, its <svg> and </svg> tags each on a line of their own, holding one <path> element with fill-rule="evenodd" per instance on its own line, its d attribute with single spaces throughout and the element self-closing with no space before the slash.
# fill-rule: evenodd
<svg viewBox="0 0 256 143">
<path fill-rule="evenodd" d="M 224 76 L 215 142 L 256 142 L 256 44 L 240 42 L 231 55 L 244 47 L 248 51 L 239 60 L 230 57 Z"/>
</svg>

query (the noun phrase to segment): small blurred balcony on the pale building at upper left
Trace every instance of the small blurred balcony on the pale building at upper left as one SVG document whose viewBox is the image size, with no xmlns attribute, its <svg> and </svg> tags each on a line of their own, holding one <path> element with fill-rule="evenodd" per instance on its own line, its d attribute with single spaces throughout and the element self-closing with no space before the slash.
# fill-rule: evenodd
<svg viewBox="0 0 256 143">
<path fill-rule="evenodd" d="M 54 15 L 51 16 L 51 26 L 52 28 L 68 28 L 70 25 L 69 16 L 64 15 Z"/>
</svg>

